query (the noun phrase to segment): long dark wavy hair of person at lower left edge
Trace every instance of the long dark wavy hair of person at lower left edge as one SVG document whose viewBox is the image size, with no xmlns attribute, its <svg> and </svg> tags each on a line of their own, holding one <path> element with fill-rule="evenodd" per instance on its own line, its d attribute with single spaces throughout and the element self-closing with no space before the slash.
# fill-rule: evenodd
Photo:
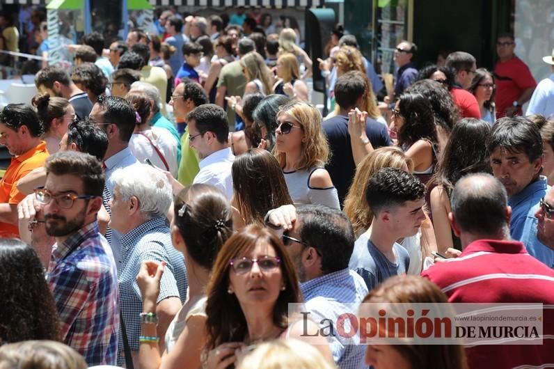
<svg viewBox="0 0 554 369">
<path fill-rule="evenodd" d="M 0 241 L 0 345 L 60 340 L 54 297 L 35 250 L 19 240 Z"/>
</svg>

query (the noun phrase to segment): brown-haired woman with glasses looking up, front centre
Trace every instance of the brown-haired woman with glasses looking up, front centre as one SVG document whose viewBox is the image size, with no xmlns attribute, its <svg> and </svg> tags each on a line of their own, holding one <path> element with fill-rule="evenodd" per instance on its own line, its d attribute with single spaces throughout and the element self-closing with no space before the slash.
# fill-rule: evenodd
<svg viewBox="0 0 554 369">
<path fill-rule="evenodd" d="M 207 368 L 237 365 L 239 356 L 268 340 L 308 339 L 304 329 L 318 326 L 289 315 L 289 304 L 299 302 L 296 269 L 279 238 L 258 224 L 232 235 L 217 256 L 207 288 Z M 309 339 L 332 362 L 326 338 Z"/>
</svg>

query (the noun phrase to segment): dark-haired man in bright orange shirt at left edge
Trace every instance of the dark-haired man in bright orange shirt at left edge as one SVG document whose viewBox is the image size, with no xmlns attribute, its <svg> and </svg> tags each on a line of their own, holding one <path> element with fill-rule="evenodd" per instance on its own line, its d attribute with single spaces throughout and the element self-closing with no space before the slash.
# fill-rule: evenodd
<svg viewBox="0 0 554 369">
<path fill-rule="evenodd" d="M 25 104 L 8 104 L 0 113 L 0 145 L 14 155 L 0 180 L 0 238 L 19 237 L 17 204 L 25 195 L 16 185 L 20 178 L 39 168 L 48 157 L 41 141 L 42 124 L 35 111 Z"/>
</svg>

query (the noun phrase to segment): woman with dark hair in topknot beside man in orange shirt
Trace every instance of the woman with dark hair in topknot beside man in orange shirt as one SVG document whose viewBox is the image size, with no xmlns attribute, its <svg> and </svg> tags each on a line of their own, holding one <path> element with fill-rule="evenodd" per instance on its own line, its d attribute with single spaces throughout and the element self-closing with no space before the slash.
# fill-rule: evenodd
<svg viewBox="0 0 554 369">
<path fill-rule="evenodd" d="M 69 124 L 76 118 L 75 110 L 67 99 L 50 97 L 47 93 L 36 95 L 31 100 L 42 122 L 46 148 L 50 155 L 58 152 L 63 135 L 68 132 Z"/>
</svg>

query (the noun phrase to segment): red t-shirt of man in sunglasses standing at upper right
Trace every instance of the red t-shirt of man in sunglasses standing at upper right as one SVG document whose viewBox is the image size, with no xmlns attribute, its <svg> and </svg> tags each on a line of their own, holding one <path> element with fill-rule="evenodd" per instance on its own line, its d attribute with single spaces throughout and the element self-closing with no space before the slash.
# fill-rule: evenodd
<svg viewBox="0 0 554 369">
<path fill-rule="evenodd" d="M 494 67 L 496 84 L 496 118 L 506 115 L 505 110 L 513 107 L 523 91 L 537 86 L 528 66 L 520 58 L 514 56 L 504 63 L 498 61 Z M 517 115 L 523 115 L 521 107 L 516 111 Z"/>
</svg>

